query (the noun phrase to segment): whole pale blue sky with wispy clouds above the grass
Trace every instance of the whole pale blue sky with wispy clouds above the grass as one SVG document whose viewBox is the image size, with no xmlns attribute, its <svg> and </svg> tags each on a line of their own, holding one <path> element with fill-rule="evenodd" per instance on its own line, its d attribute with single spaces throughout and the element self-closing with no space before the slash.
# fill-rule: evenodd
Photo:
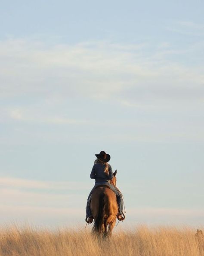
<svg viewBox="0 0 204 256">
<path fill-rule="evenodd" d="M 127 223 L 203 224 L 203 7 L 1 1 L 1 224 L 83 222 L 100 150 Z"/>
</svg>

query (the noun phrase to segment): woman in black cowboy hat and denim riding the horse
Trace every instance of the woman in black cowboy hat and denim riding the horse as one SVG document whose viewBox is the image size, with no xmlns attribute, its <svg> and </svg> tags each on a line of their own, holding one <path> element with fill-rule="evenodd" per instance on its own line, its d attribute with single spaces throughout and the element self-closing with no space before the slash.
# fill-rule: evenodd
<svg viewBox="0 0 204 256">
<path fill-rule="evenodd" d="M 97 159 L 94 161 L 94 166 L 92 168 L 90 178 L 95 179 L 95 186 L 91 190 L 88 200 L 87 200 L 87 217 L 86 222 L 92 223 L 93 215 L 91 213 L 89 198 L 93 192 L 93 190 L 99 185 L 107 185 L 109 188 L 116 194 L 117 204 L 119 206 L 119 213 L 117 215 L 117 219 L 119 221 L 123 221 L 123 200 L 122 194 L 117 190 L 117 188 L 110 183 L 110 180 L 113 178 L 113 172 L 108 161 L 111 159 L 109 154 L 106 154 L 105 151 L 101 151 L 100 154 L 95 154 Z"/>
</svg>

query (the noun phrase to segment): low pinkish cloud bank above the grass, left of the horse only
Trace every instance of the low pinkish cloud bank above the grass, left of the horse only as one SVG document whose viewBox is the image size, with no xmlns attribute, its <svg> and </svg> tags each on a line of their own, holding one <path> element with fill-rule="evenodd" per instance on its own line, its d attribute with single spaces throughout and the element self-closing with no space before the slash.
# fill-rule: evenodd
<svg viewBox="0 0 204 256">
<path fill-rule="evenodd" d="M 83 219 L 88 189 L 82 182 L 49 182 L 0 177 L 0 224 L 35 222 L 55 226 Z M 86 191 L 84 193 L 84 191 Z"/>
</svg>

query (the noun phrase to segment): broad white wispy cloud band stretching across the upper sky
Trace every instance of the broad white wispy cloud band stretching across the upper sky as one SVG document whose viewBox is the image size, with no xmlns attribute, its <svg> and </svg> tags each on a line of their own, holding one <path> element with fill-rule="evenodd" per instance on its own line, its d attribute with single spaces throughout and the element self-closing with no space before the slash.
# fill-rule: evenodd
<svg viewBox="0 0 204 256">
<path fill-rule="evenodd" d="M 185 67 L 176 59 L 169 62 L 165 58 L 167 54 L 184 54 L 185 49 L 164 51 L 155 47 L 149 54 L 142 54 L 141 48 L 147 50 L 148 45 L 134 47 L 111 42 L 52 47 L 28 40 L 0 42 L 0 56 L 4 59 L 0 64 L 1 96 L 49 97 L 56 93 L 125 100 L 124 92 L 132 88 L 173 90 L 179 86 L 185 90 L 185 83 L 188 87 L 194 83 L 194 88 L 203 83 L 197 67 Z"/>
</svg>

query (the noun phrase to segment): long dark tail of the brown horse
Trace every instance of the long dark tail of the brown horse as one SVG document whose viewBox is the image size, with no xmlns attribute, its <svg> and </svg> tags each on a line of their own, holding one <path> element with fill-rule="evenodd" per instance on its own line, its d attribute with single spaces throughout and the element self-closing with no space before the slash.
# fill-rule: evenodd
<svg viewBox="0 0 204 256">
<path fill-rule="evenodd" d="M 105 201 L 104 201 L 105 193 L 102 192 L 99 196 L 99 209 L 98 214 L 94 220 L 93 224 L 93 233 L 99 234 L 102 233 L 103 228 L 102 224 L 104 224 L 104 214 L 105 214 Z"/>
</svg>

